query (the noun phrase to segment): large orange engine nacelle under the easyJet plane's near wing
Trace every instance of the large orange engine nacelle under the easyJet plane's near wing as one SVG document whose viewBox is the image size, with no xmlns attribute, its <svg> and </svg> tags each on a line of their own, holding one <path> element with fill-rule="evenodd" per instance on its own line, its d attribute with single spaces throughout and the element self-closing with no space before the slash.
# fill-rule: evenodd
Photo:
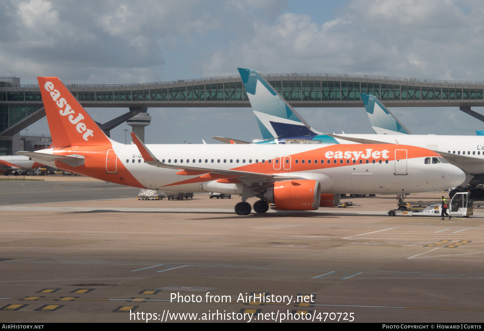
<svg viewBox="0 0 484 331">
<path fill-rule="evenodd" d="M 282 211 L 315 211 L 321 200 L 319 181 L 277 181 L 267 190 L 264 198 Z"/>
</svg>

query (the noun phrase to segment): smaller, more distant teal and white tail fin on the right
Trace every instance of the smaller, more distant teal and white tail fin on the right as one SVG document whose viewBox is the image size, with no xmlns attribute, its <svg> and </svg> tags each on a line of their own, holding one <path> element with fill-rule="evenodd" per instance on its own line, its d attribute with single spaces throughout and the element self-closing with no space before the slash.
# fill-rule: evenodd
<svg viewBox="0 0 484 331">
<path fill-rule="evenodd" d="M 411 135 L 410 131 L 388 110 L 376 96 L 360 94 L 371 126 L 378 135 Z"/>
</svg>

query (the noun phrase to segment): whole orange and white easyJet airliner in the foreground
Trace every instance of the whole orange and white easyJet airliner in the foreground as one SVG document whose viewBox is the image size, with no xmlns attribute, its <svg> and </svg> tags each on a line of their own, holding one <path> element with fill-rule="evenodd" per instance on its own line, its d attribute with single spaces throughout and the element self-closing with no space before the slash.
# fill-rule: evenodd
<svg viewBox="0 0 484 331">
<path fill-rule="evenodd" d="M 256 212 L 317 210 L 337 194 L 411 193 L 460 184 L 437 152 L 406 145 L 123 145 L 108 138 L 56 77 L 38 77 L 53 147 L 17 152 L 62 170 L 154 190 L 257 196 Z M 428 165 L 427 159 L 440 160 Z M 329 201 L 328 201 L 329 200 Z"/>
</svg>

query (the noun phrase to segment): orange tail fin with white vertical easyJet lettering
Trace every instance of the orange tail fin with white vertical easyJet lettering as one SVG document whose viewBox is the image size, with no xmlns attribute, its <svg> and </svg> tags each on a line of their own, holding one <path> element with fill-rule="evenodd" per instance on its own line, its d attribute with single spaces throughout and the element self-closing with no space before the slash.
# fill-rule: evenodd
<svg viewBox="0 0 484 331">
<path fill-rule="evenodd" d="M 55 147 L 110 144 L 105 133 L 59 78 L 37 79 L 52 135 L 52 144 Z"/>
</svg>

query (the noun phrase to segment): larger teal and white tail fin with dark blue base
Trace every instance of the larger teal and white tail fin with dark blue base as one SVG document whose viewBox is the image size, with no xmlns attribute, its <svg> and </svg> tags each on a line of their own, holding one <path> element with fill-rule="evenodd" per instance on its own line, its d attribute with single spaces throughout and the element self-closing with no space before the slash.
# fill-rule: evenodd
<svg viewBox="0 0 484 331">
<path fill-rule="evenodd" d="M 257 71 L 237 69 L 264 139 L 320 134 Z"/>
</svg>

